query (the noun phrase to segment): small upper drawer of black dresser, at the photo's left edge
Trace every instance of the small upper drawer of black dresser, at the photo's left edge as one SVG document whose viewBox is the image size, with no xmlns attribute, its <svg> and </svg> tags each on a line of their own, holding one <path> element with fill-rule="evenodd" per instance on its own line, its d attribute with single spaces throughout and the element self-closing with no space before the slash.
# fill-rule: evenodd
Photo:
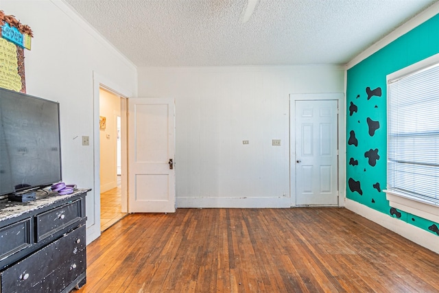
<svg viewBox="0 0 439 293">
<path fill-rule="evenodd" d="M 31 221 L 32 218 L 27 218 L 0 228 L 0 259 L 31 246 Z"/>
</svg>

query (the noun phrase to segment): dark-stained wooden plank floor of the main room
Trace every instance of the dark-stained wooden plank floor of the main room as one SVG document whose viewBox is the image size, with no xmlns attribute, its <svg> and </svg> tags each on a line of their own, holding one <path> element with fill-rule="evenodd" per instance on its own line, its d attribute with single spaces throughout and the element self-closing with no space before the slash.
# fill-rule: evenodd
<svg viewBox="0 0 439 293">
<path fill-rule="evenodd" d="M 131 214 L 79 292 L 439 292 L 439 255 L 346 209 Z"/>
</svg>

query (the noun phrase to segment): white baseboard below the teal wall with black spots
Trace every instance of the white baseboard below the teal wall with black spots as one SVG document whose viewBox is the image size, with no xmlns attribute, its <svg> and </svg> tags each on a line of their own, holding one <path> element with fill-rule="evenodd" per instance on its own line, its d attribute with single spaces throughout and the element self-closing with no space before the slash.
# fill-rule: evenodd
<svg viewBox="0 0 439 293">
<path fill-rule="evenodd" d="M 390 231 L 393 231 L 420 246 L 428 248 L 435 253 L 439 253 L 438 235 L 434 235 L 433 233 L 429 233 L 414 225 L 392 218 L 390 215 L 386 215 L 375 209 L 370 209 L 370 207 L 366 207 L 364 204 L 360 204 L 359 202 L 355 202 L 348 198 L 345 199 L 345 207 L 346 209 L 353 211 L 384 228 L 388 228 Z"/>
</svg>

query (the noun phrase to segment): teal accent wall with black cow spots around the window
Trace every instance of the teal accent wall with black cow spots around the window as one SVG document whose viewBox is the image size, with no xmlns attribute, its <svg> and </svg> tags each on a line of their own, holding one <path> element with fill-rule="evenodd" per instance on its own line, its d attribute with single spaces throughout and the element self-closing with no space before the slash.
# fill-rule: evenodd
<svg viewBox="0 0 439 293">
<path fill-rule="evenodd" d="M 386 75 L 438 53 L 439 14 L 348 69 L 346 88 L 346 197 L 435 235 L 439 235 L 438 223 L 392 209 L 383 189 Z"/>
</svg>

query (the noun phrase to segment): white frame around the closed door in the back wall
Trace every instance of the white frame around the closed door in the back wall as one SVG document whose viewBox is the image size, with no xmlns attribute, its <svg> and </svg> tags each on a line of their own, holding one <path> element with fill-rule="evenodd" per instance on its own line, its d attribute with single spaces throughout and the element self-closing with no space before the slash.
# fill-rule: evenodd
<svg viewBox="0 0 439 293">
<path fill-rule="evenodd" d="M 296 206 L 296 101 L 337 100 L 338 103 L 338 206 L 344 207 L 346 198 L 346 102 L 344 93 L 292 93 L 289 94 L 289 194 L 290 206 Z"/>
</svg>

